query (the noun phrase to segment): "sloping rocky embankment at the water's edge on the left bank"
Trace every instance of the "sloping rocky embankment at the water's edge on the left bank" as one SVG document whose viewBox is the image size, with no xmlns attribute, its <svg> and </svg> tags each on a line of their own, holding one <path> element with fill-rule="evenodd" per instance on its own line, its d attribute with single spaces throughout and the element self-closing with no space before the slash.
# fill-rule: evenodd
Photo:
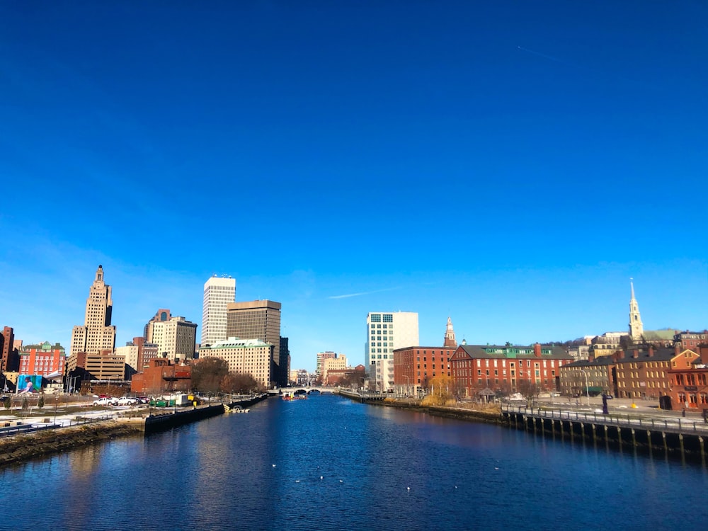
<svg viewBox="0 0 708 531">
<path fill-rule="evenodd" d="M 130 422 L 101 421 L 72 428 L 16 435 L 0 440 L 0 465 L 66 452 L 126 435 L 142 435 L 142 426 Z"/>
</svg>

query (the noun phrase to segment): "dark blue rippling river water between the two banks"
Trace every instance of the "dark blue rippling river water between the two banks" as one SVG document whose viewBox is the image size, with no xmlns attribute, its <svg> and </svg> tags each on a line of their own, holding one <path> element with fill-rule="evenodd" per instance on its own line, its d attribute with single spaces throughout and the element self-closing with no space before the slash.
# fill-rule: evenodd
<svg viewBox="0 0 708 531">
<path fill-rule="evenodd" d="M 707 492 L 700 464 L 324 395 L 0 469 L 0 528 L 703 530 Z"/>
</svg>

